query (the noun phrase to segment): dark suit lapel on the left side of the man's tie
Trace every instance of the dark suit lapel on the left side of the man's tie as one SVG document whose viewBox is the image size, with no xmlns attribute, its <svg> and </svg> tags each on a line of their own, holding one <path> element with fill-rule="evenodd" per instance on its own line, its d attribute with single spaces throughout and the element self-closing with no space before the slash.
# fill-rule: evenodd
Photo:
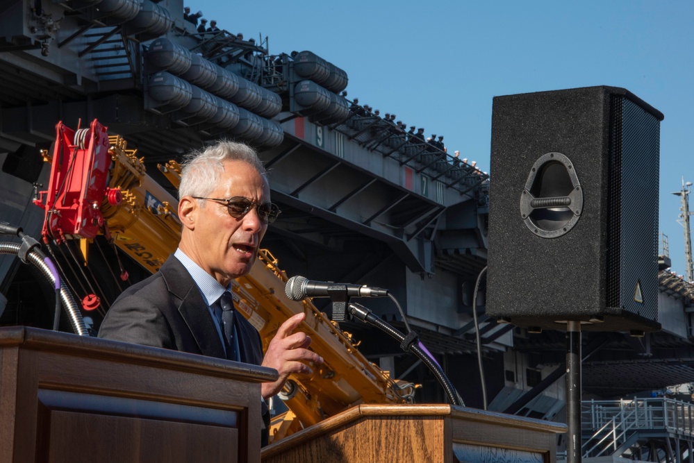
<svg viewBox="0 0 694 463">
<path fill-rule="evenodd" d="M 169 292 L 181 301 L 179 313 L 202 355 L 226 358 L 222 339 L 195 281 L 181 262 L 171 257 L 161 267 Z"/>
</svg>

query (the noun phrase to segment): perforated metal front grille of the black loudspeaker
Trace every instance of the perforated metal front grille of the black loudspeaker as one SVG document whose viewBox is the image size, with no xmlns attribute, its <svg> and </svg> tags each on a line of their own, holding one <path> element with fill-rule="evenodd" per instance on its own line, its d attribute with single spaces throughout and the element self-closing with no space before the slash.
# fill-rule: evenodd
<svg viewBox="0 0 694 463">
<path fill-rule="evenodd" d="M 611 109 L 607 303 L 655 321 L 660 124 L 621 95 Z M 643 302 L 634 300 L 637 285 Z"/>
</svg>

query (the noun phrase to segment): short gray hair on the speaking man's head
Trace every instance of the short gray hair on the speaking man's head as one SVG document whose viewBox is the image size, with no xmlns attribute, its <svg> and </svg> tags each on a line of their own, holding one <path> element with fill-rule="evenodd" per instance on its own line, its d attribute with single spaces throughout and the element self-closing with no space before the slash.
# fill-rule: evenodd
<svg viewBox="0 0 694 463">
<path fill-rule="evenodd" d="M 183 158 L 179 199 L 183 196 L 208 196 L 220 183 L 224 161 L 242 161 L 265 175 L 265 167 L 255 149 L 247 144 L 220 140 L 204 149 L 190 151 Z"/>
</svg>

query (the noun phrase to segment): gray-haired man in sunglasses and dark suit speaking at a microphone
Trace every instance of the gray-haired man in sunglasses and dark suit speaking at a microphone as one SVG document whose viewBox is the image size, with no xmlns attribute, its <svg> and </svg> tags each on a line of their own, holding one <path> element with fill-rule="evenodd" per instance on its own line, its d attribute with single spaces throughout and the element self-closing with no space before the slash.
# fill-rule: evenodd
<svg viewBox="0 0 694 463">
<path fill-rule="evenodd" d="M 265 168 L 254 149 L 222 141 L 190 153 L 179 187 L 181 241 L 161 269 L 113 303 L 99 337 L 220 357 L 276 369 L 261 385 L 267 399 L 292 373 L 322 364 L 304 320 L 285 321 L 263 356 L 256 329 L 233 308 L 231 281 L 251 270 L 267 225 L 279 215 L 270 203 Z M 267 413 L 264 418 L 267 420 Z"/>
</svg>

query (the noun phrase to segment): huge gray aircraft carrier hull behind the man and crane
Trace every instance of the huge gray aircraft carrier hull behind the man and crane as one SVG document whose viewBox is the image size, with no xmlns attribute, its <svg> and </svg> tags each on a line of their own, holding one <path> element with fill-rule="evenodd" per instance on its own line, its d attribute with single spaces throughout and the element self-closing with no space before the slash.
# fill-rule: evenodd
<svg viewBox="0 0 694 463">
<path fill-rule="evenodd" d="M 41 235 L 44 211 L 33 200 L 49 187 L 50 168 L 39 153 L 51 152 L 58 121 L 87 128 L 97 119 L 108 135 L 137 149 L 128 169 L 146 171 L 159 193 L 122 201 L 147 199 L 147 208 L 160 211 L 159 221 L 175 221 L 172 201 L 158 196 L 176 197 L 167 177 L 175 178 L 183 153 L 220 137 L 244 140 L 270 169 L 272 199 L 283 210 L 263 242 L 270 267 L 285 276 L 390 289 L 473 407 L 484 405 L 474 342 L 479 330 L 490 409 L 561 419 L 563 332 L 533 334 L 488 319 L 484 281 L 474 297 L 486 265 L 488 176 L 347 99 L 349 69 L 340 69 L 339 56 L 270 53 L 267 42 L 229 33 L 224 22 L 221 31 L 198 33 L 183 20 L 177 0 L 4 3 L 0 221 Z M 118 143 L 109 141 L 109 148 Z M 125 226 L 126 219 L 111 220 Z M 84 312 L 92 329 L 126 285 L 160 264 L 141 233 L 158 232 L 116 234 L 119 246 L 98 235 L 88 251 L 76 242 L 63 253 L 53 249 L 76 298 L 94 309 Z M 7 299 L 3 325 L 50 326 L 45 308 L 52 295 L 37 290 L 12 256 L 0 256 L 0 281 Z M 327 299 L 313 303 L 316 313 L 331 311 Z M 694 382 L 693 304 L 691 285 L 661 268 L 663 331 L 643 338 L 587 334 L 584 396 L 629 396 Z M 390 301 L 367 305 L 402 326 Z M 366 363 L 390 372 L 388 378 L 421 384 L 415 401 L 445 400 L 427 369 L 390 339 L 352 322 L 340 328 L 352 333 Z"/>
</svg>

